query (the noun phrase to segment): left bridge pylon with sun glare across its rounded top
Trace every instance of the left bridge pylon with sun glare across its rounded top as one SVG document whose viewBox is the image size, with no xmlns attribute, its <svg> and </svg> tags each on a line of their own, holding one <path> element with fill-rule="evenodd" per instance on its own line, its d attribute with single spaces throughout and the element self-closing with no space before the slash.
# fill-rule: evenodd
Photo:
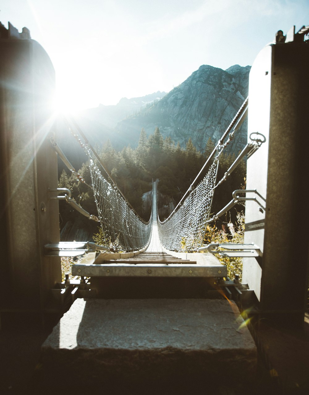
<svg viewBox="0 0 309 395">
<path fill-rule="evenodd" d="M 2 35 L 2 37 L 4 37 Z M 2 323 L 14 313 L 42 317 L 50 289 L 61 281 L 58 257 L 43 246 L 59 241 L 57 156 L 49 135 L 55 73 L 34 40 L 0 38 L 0 211 Z"/>
</svg>

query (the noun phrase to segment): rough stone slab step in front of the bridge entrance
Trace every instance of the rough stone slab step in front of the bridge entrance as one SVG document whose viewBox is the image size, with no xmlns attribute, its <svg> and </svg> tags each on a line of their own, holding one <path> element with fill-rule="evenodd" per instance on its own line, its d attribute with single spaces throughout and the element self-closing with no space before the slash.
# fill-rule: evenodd
<svg viewBox="0 0 309 395">
<path fill-rule="evenodd" d="M 256 363 L 232 301 L 77 299 L 42 345 L 41 382 L 45 393 L 78 382 L 87 393 L 236 394 Z"/>
</svg>

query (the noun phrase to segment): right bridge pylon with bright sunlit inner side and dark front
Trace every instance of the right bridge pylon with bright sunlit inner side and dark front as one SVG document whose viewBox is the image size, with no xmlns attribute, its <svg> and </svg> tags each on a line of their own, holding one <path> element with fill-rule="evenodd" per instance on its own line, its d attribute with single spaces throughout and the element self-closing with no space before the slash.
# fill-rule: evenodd
<svg viewBox="0 0 309 395">
<path fill-rule="evenodd" d="M 244 258 L 242 278 L 255 291 L 263 316 L 302 326 L 309 245 L 309 45 L 297 34 L 288 36 L 260 51 L 249 76 L 248 141 L 258 132 L 266 142 L 247 160 L 246 188 L 266 199 L 266 210 L 246 202 L 245 243 L 257 244 L 262 256 Z"/>
</svg>

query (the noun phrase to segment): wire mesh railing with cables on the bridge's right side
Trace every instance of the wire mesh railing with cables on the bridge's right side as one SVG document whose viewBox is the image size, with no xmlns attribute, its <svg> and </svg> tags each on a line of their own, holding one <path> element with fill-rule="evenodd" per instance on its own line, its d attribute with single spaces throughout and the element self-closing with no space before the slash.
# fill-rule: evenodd
<svg viewBox="0 0 309 395">
<path fill-rule="evenodd" d="M 190 185 L 189 189 L 184 194 L 172 214 L 170 214 L 170 216 L 163 222 L 158 220 L 159 237 L 161 244 L 165 248 L 180 251 L 181 246 L 185 245 L 187 251 L 198 250 L 202 244 L 207 224 L 214 218 L 217 218 L 210 218 L 215 188 L 227 180 L 232 171 L 234 171 L 238 164 L 243 160 L 245 155 L 250 155 L 255 152 L 262 142 L 264 142 L 264 140 L 261 139 L 261 137 L 264 136 L 261 136 L 258 133 L 256 133 L 257 137 L 251 137 L 251 143 L 248 143 L 245 146 L 232 165 L 227 169 L 223 178 L 217 182 L 220 156 L 234 139 L 234 134 L 240 129 L 240 126 L 247 116 L 247 108 L 248 98 L 243 102 L 242 107 L 240 107 L 227 130 L 215 145 L 215 148 L 209 158 L 206 160 L 199 174 Z M 217 155 L 214 157 L 215 153 L 217 153 Z M 212 159 L 213 157 L 214 159 Z M 210 165 L 212 160 L 213 162 Z M 195 182 L 197 182 L 202 171 L 207 165 L 210 165 L 207 174 L 196 188 L 193 189 Z"/>
</svg>

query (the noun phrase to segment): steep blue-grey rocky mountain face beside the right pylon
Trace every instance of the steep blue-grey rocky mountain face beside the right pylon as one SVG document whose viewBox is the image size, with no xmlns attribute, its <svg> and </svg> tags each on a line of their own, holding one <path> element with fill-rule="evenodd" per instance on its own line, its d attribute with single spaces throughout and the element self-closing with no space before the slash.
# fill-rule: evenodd
<svg viewBox="0 0 309 395">
<path fill-rule="evenodd" d="M 191 137 L 197 149 L 204 150 L 209 137 L 213 141 L 221 137 L 247 97 L 250 68 L 234 65 L 224 71 L 200 66 L 152 107 L 119 122 L 115 143 L 134 147 L 142 127 L 150 134 L 158 126 L 164 137 L 170 136 L 182 146 Z M 246 143 L 246 131 L 237 143 L 237 149 Z"/>
</svg>

